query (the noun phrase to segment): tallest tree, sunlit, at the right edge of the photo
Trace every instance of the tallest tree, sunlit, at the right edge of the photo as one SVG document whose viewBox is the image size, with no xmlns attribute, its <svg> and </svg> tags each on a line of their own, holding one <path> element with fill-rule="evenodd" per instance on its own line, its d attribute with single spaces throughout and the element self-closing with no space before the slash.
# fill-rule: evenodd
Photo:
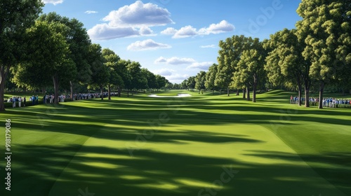
<svg viewBox="0 0 351 196">
<path fill-rule="evenodd" d="M 303 20 L 296 23 L 298 38 L 305 41 L 303 57 L 310 60 L 310 76 L 319 82 L 319 109 L 324 86 L 336 82 L 351 62 L 351 2 L 303 0 L 298 6 Z"/>
</svg>

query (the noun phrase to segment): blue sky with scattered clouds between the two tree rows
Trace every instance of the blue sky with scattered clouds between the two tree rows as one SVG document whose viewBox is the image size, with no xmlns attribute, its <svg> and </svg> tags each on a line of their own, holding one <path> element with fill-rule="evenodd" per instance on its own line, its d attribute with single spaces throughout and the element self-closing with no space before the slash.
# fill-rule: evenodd
<svg viewBox="0 0 351 196">
<path fill-rule="evenodd" d="M 299 0 L 43 0 L 44 13 L 77 18 L 93 43 L 172 83 L 217 63 L 233 35 L 263 40 L 300 17 Z"/>
</svg>

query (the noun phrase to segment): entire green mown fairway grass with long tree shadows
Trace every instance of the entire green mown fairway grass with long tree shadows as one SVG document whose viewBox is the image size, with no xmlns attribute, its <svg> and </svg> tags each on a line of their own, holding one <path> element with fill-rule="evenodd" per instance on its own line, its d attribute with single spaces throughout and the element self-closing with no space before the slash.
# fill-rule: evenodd
<svg viewBox="0 0 351 196">
<path fill-rule="evenodd" d="M 351 195 L 350 109 L 287 104 L 282 91 L 190 94 L 0 113 L 13 153 L 1 195 Z"/>
</svg>

